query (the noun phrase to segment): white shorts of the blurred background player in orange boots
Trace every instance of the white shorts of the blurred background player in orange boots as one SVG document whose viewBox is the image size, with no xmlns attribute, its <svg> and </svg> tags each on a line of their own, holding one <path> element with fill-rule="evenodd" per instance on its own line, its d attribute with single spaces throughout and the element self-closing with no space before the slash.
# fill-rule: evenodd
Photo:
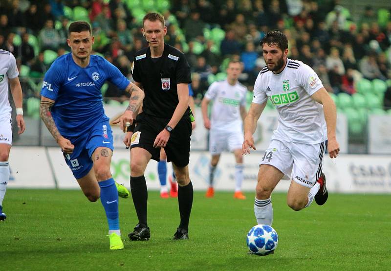
<svg viewBox="0 0 391 271">
<path fill-rule="evenodd" d="M 220 154 L 223 151 L 234 151 L 241 149 L 243 144 L 243 132 L 221 132 L 210 131 L 209 134 L 209 151 L 212 155 Z"/>
</svg>

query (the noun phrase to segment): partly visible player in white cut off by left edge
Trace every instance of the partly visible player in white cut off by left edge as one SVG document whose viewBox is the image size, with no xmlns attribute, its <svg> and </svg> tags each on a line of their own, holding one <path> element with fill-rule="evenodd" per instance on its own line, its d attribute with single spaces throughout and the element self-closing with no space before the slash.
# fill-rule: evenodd
<svg viewBox="0 0 391 271">
<path fill-rule="evenodd" d="M 16 107 L 18 134 L 25 129 L 22 109 L 22 87 L 19 82 L 19 71 L 15 57 L 8 51 L 0 49 L 0 220 L 7 217 L 2 211 L 2 203 L 9 181 L 8 157 L 12 145 L 12 108 L 8 101 L 8 85 Z"/>
</svg>

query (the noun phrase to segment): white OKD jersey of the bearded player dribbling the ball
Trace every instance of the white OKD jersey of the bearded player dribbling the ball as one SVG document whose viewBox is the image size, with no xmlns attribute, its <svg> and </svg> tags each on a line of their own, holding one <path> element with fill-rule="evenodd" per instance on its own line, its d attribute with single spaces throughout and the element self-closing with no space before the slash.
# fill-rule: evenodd
<svg viewBox="0 0 391 271">
<path fill-rule="evenodd" d="M 270 101 L 279 113 L 272 139 L 307 144 L 327 139 L 323 106 L 310 96 L 323 88 L 316 72 L 301 61 L 287 59 L 285 68 L 274 74 L 267 67 L 258 74 L 253 103 Z"/>
</svg>

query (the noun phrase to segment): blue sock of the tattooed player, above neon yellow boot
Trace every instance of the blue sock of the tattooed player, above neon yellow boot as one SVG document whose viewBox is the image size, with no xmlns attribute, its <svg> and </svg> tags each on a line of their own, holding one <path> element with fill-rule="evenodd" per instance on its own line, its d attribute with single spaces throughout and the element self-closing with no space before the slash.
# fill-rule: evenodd
<svg viewBox="0 0 391 271">
<path fill-rule="evenodd" d="M 118 191 L 114 179 L 99 181 L 98 184 L 101 188 L 101 202 L 106 211 L 109 230 L 118 230 Z"/>
</svg>

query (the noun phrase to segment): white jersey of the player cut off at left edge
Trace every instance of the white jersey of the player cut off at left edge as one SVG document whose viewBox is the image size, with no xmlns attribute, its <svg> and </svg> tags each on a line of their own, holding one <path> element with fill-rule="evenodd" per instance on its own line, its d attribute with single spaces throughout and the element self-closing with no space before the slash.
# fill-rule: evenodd
<svg viewBox="0 0 391 271">
<path fill-rule="evenodd" d="M 0 117 L 11 116 L 12 108 L 8 101 L 8 78 L 19 75 L 13 54 L 0 49 Z"/>
</svg>

